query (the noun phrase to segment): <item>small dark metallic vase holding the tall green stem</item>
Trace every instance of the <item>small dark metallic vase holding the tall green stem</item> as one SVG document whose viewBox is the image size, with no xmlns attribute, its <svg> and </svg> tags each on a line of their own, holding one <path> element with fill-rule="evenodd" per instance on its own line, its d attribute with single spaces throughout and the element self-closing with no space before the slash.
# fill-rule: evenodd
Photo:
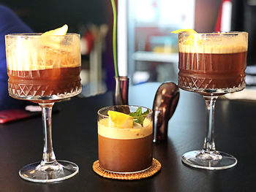
<svg viewBox="0 0 256 192">
<path fill-rule="evenodd" d="M 115 77 L 116 90 L 113 96 L 113 104 L 128 104 L 129 78 L 120 76 Z"/>
</svg>

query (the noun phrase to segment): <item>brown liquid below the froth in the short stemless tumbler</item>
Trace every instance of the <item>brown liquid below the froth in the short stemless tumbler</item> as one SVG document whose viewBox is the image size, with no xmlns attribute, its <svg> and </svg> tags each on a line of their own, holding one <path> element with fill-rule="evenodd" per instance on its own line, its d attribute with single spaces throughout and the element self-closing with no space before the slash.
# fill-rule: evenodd
<svg viewBox="0 0 256 192">
<path fill-rule="evenodd" d="M 138 172 L 152 165 L 153 135 L 139 139 L 110 139 L 98 134 L 99 164 L 111 172 Z"/>
</svg>

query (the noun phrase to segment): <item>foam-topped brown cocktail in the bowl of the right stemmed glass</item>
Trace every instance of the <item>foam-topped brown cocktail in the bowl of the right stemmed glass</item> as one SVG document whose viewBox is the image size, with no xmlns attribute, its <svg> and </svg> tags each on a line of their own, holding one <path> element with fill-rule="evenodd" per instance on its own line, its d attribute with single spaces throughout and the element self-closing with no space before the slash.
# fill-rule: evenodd
<svg viewBox="0 0 256 192">
<path fill-rule="evenodd" d="M 244 36 L 208 34 L 200 38 L 196 34 L 195 37 L 198 38 L 179 44 L 178 86 L 203 95 L 244 89 L 247 55 Z"/>
</svg>

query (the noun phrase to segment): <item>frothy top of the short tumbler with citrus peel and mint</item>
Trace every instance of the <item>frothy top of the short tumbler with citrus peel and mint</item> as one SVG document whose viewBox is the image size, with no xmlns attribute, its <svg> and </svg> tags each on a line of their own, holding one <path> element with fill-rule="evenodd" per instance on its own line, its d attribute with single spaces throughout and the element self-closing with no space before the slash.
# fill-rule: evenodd
<svg viewBox="0 0 256 192">
<path fill-rule="evenodd" d="M 152 113 L 153 111 L 146 107 L 133 105 L 104 107 L 98 111 L 98 134 L 110 139 L 147 137 L 153 132 Z M 132 118 L 132 124 L 127 123 L 127 116 Z"/>
</svg>

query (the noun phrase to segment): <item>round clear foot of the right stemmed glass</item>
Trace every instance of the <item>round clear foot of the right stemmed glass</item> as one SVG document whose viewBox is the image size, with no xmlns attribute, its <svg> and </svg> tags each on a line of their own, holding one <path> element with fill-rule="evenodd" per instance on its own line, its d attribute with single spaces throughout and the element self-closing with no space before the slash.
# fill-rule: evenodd
<svg viewBox="0 0 256 192">
<path fill-rule="evenodd" d="M 215 151 L 206 153 L 203 150 L 193 150 L 182 156 L 182 162 L 189 166 L 200 169 L 228 169 L 237 164 L 237 159 L 233 155 Z"/>
</svg>

